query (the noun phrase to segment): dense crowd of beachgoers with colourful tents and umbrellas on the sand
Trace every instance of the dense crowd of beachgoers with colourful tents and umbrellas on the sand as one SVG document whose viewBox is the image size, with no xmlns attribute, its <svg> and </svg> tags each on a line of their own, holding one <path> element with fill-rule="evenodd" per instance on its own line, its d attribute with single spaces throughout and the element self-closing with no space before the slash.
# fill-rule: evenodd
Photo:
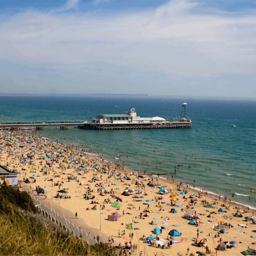
<svg viewBox="0 0 256 256">
<path fill-rule="evenodd" d="M 117 225 L 123 224 L 126 228 L 129 227 L 130 223 L 138 225 L 139 228 L 127 229 L 130 237 L 125 237 L 125 230 L 118 231 L 115 240 L 113 235 L 109 236 L 109 243 L 111 245 L 119 244 L 119 247 L 123 247 L 127 254 L 130 254 L 132 250 L 137 250 L 137 247 L 143 244 L 159 250 L 172 249 L 174 245 L 186 244 L 187 246 L 188 244 L 201 247 L 205 250 L 205 253 L 211 253 L 215 250 L 215 244 L 224 243 L 226 249 L 230 249 L 234 246 L 226 242 L 226 237 L 225 242 L 223 242 L 221 237 L 223 234 L 220 233 L 219 229 L 214 230 L 214 228 L 221 225 L 223 229 L 226 229 L 228 239 L 231 239 L 232 237 L 228 236 L 227 233 L 233 234 L 233 237 L 235 236 L 239 228 L 237 226 L 239 218 L 242 220 L 246 215 L 249 219 L 243 221 L 251 223 L 250 225 L 255 223 L 252 211 L 248 212 L 248 210 L 243 210 L 239 206 L 228 205 L 226 196 L 214 198 L 214 202 L 210 203 L 210 199 L 205 193 L 202 191 L 196 193 L 186 184 L 175 181 L 173 176 L 172 179 L 167 180 L 169 182 L 167 183 L 167 181 L 153 175 L 149 176 L 146 173 L 129 171 L 126 169 L 124 162 L 122 164 L 107 162 L 103 155 L 90 155 L 88 153 L 92 151 L 86 151 L 85 148 L 78 148 L 73 144 L 63 145 L 46 138 L 29 136 L 20 131 L 2 131 L 0 139 L 3 150 L 1 152 L 2 164 L 12 171 L 19 172 L 22 177 L 18 180 L 19 190 L 22 190 L 23 182 L 27 182 L 30 194 L 34 190 L 38 196 L 44 195 L 46 199 L 47 194 L 44 191 L 43 184 L 49 183 L 52 188 L 62 189 L 62 193 L 58 192 L 55 196 L 57 199 L 70 199 L 70 202 L 78 198 L 83 199 L 79 202 L 86 206 L 86 210 L 92 210 L 93 207 L 93 210 L 95 210 L 95 206 L 100 206 L 101 214 L 107 213 L 107 211 L 119 211 L 122 222 L 113 222 L 113 227 L 110 226 L 105 229 L 106 233 L 113 234 Z M 149 182 L 153 186 L 149 185 Z M 177 188 L 174 188 L 176 186 L 170 186 L 174 182 L 177 182 Z M 78 188 L 76 188 L 76 191 L 69 188 L 74 183 Z M 38 189 L 33 189 L 32 186 L 34 185 L 37 185 Z M 63 191 L 70 194 L 65 195 Z M 222 198 L 224 202 L 219 201 Z M 119 202 L 121 205 L 114 208 L 113 203 L 115 202 Z M 206 205 L 210 206 L 206 207 Z M 220 207 L 228 214 L 222 215 L 218 211 Z M 77 212 L 80 210 L 79 206 L 72 210 L 76 211 L 77 217 Z M 189 214 L 189 211 L 193 212 Z M 163 212 L 166 214 L 163 215 Z M 234 217 L 237 212 L 238 219 Z M 82 214 L 83 211 L 79 213 L 79 216 Z M 87 214 L 90 213 L 87 212 Z M 229 223 L 225 221 L 227 219 Z M 157 226 L 157 220 L 161 220 L 167 225 L 159 223 L 159 230 L 162 230 L 161 234 L 153 237 L 152 233 Z M 193 220 L 194 226 L 190 227 L 186 222 L 187 220 Z M 104 223 L 107 227 L 107 220 L 103 221 L 103 225 Z M 176 227 L 175 225 L 177 225 L 179 227 L 177 223 L 181 223 L 179 224 L 182 230 L 182 233 L 179 232 L 180 236 L 176 239 L 166 235 L 169 233 L 171 226 Z M 194 236 L 191 235 L 195 231 L 194 227 L 204 230 L 205 234 L 209 233 L 206 233 L 206 230 L 210 228 L 211 243 L 207 240 L 201 242 L 197 239 L 199 235 L 202 236 L 203 234 L 198 229 L 194 239 Z M 190 231 L 187 232 L 187 230 Z M 250 227 L 248 230 L 251 232 L 252 228 Z M 148 236 L 144 235 L 146 231 Z M 133 241 L 135 235 L 140 238 L 138 243 L 127 242 Z M 188 239 L 185 240 L 184 237 Z M 125 243 L 121 240 L 124 238 L 126 239 Z M 217 239 L 219 242 L 217 242 Z M 250 237 L 250 239 L 253 238 Z M 247 239 L 247 243 L 252 244 L 253 241 L 250 239 Z"/>
</svg>

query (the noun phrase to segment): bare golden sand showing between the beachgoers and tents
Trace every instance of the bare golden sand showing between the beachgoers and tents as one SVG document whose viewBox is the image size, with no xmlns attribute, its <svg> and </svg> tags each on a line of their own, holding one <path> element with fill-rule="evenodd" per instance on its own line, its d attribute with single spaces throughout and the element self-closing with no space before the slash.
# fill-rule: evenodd
<svg viewBox="0 0 256 256">
<path fill-rule="evenodd" d="M 229 202 L 223 202 L 223 199 L 222 201 L 220 201 L 218 198 L 210 198 L 206 195 L 203 195 L 202 192 L 202 197 L 199 198 L 198 191 L 193 191 L 192 189 L 189 188 L 188 193 L 185 194 L 185 197 L 187 198 L 185 201 L 185 199 L 183 198 L 184 195 L 180 195 L 181 191 L 178 190 L 177 188 L 178 181 L 167 181 L 160 179 L 156 181 L 156 178 L 154 177 L 154 181 L 157 184 L 161 184 L 161 186 L 149 187 L 147 186 L 147 183 L 151 178 L 148 175 L 142 175 L 142 178 L 138 178 L 138 174 L 134 170 L 133 172 L 135 173 L 131 175 L 131 180 L 123 180 L 122 182 L 121 180 L 116 180 L 116 177 L 114 176 L 111 176 L 109 178 L 111 172 L 115 170 L 113 163 L 108 163 L 112 167 L 109 167 L 110 171 L 107 170 L 108 173 L 103 173 L 103 171 L 100 171 L 101 167 L 102 165 L 106 165 L 107 163 L 102 162 L 99 156 L 83 154 L 83 148 L 81 148 L 80 150 L 79 148 L 75 147 L 68 148 L 66 146 L 57 144 L 56 142 L 47 139 L 40 139 L 35 137 L 29 138 L 29 135 L 17 131 L 13 131 L 12 134 L 9 133 L 8 131 L 4 131 L 4 133 L 7 133 L 7 135 L 10 136 L 9 139 L 11 140 L 7 141 L 8 138 L 6 137 L 6 135 L 1 135 L 3 150 L 1 151 L 1 165 L 7 165 L 8 163 L 8 167 L 10 170 L 13 170 L 15 168 L 15 170 L 20 172 L 21 180 L 23 180 L 23 176 L 24 178 L 29 178 L 32 175 L 39 175 L 39 177 L 35 177 L 35 183 L 22 182 L 22 189 L 25 189 L 27 191 L 29 189 L 30 194 L 39 198 L 42 204 L 46 205 L 50 203 L 50 207 L 53 207 L 53 209 L 55 209 L 56 212 L 58 212 L 59 214 L 64 214 L 66 219 L 70 220 L 70 222 L 73 221 L 75 225 L 82 227 L 82 229 L 85 229 L 87 233 L 90 232 L 92 234 L 92 237 L 94 235 L 99 234 L 101 242 L 108 242 L 108 237 L 113 235 L 114 245 L 118 245 L 119 243 L 121 243 L 121 245 L 124 246 L 124 242 L 126 242 L 126 240 L 124 240 L 122 237 L 118 237 L 118 230 L 120 231 L 120 233 L 122 233 L 122 231 L 125 230 L 125 237 L 129 237 L 129 235 L 133 233 L 133 238 L 131 242 L 132 244 L 135 243 L 138 246 L 137 251 L 133 251 L 132 255 L 139 255 L 140 251 L 142 251 L 143 255 L 147 255 L 147 253 L 152 253 L 148 255 L 154 255 L 153 253 L 165 253 L 166 255 L 178 255 L 178 253 L 180 253 L 186 255 L 188 253 L 187 249 L 189 249 L 189 254 L 196 253 L 197 251 L 205 253 L 206 250 L 203 247 L 196 247 L 191 245 L 194 243 L 193 240 L 197 239 L 197 229 L 199 229 L 200 233 L 198 234 L 198 241 L 201 241 L 201 239 L 204 238 L 209 239 L 209 242 L 206 242 L 205 245 L 209 247 L 213 255 L 215 255 L 215 249 L 219 244 L 218 241 L 220 241 L 220 238 L 222 238 L 222 241 L 227 241 L 227 245 L 229 245 L 230 241 L 235 241 L 236 244 L 233 249 L 227 249 L 226 251 L 218 251 L 218 255 L 239 255 L 242 251 L 247 250 L 247 246 L 251 247 L 252 249 L 255 249 L 256 247 L 256 245 L 252 244 L 253 242 L 256 242 L 256 238 L 251 238 L 251 236 L 256 236 L 256 233 L 252 231 L 256 229 L 256 225 L 253 225 L 251 220 L 244 221 L 244 217 L 250 217 L 253 214 L 252 211 L 243 213 L 243 218 L 236 218 L 233 217 L 233 214 L 235 214 L 238 210 L 235 209 L 236 205 L 230 205 Z M 19 135 L 19 138 L 17 137 L 17 135 Z M 12 140 L 13 138 L 16 138 L 16 140 Z M 31 142 L 29 142 L 25 138 L 28 138 Z M 41 142 L 39 143 L 39 141 Z M 22 142 L 22 145 L 24 146 L 23 148 L 13 147 L 21 145 Z M 13 151 L 13 153 L 11 153 L 11 151 Z M 52 162 L 52 167 L 49 167 L 49 164 L 47 164 L 47 162 L 52 161 L 55 157 L 57 157 L 58 151 L 62 152 L 62 154 L 59 155 L 58 163 Z M 78 152 L 80 155 L 78 155 Z M 22 153 L 23 157 L 26 157 L 27 159 L 27 162 L 25 163 L 23 163 L 23 157 L 21 157 Z M 28 164 L 28 153 L 30 155 L 34 155 L 32 157 L 32 161 L 34 161 L 32 162 L 32 164 Z M 47 155 L 47 157 L 52 156 L 53 159 L 41 157 L 43 155 Z M 74 164 L 74 162 L 63 162 L 63 160 L 65 159 L 70 159 L 68 158 L 68 156 L 71 156 L 72 159 L 77 159 L 77 161 L 87 161 L 83 164 L 83 169 L 86 170 L 86 173 L 84 171 L 77 171 L 77 167 L 81 166 L 81 163 Z M 40 163 L 41 161 L 42 164 Z M 61 167 L 60 164 L 62 165 Z M 68 169 L 69 165 L 71 165 L 70 169 Z M 97 171 L 95 171 L 95 169 L 92 168 L 92 166 L 94 165 L 97 165 L 98 173 Z M 33 166 L 33 168 L 29 168 L 28 166 Z M 42 167 L 44 166 L 45 169 L 43 170 L 47 170 L 47 173 L 50 172 L 50 174 L 43 175 L 43 172 L 40 172 Z M 122 176 L 124 175 L 124 171 L 126 171 L 126 173 L 131 172 L 129 170 L 121 170 L 119 169 L 119 167 L 117 167 L 115 171 L 116 173 L 122 172 Z M 67 182 L 67 177 L 70 176 L 70 174 L 68 173 L 73 173 L 73 176 L 77 177 L 77 180 L 75 179 L 70 180 L 70 182 Z M 56 177 L 57 175 L 60 175 L 60 177 Z M 89 182 L 93 176 L 100 179 L 101 175 L 102 179 L 100 181 L 98 180 L 96 182 Z M 145 184 L 145 188 L 143 188 L 142 185 L 137 186 L 134 183 L 132 183 L 132 180 L 134 178 L 137 178 L 137 181 L 143 182 Z M 61 183 L 60 187 L 52 186 L 52 182 L 49 181 L 50 179 L 53 179 L 53 182 L 60 181 L 63 183 Z M 32 181 L 32 179 L 30 179 L 30 181 Z M 84 185 L 79 185 L 81 181 L 84 182 Z M 104 182 L 103 191 L 105 189 L 107 191 L 113 189 L 114 191 L 116 191 L 114 197 L 122 198 L 120 210 L 117 210 L 117 208 L 113 207 L 113 203 L 116 201 L 116 199 L 111 197 L 110 194 L 101 196 L 97 192 L 98 187 L 95 187 L 95 185 L 102 182 Z M 44 195 L 37 195 L 35 191 L 36 186 L 40 186 L 42 188 L 46 186 L 46 199 Z M 164 195 L 159 195 L 157 194 L 157 192 L 159 191 L 159 188 L 162 186 L 165 189 L 169 190 L 169 192 Z M 172 188 L 169 188 L 170 186 Z M 97 210 L 86 210 L 87 207 L 92 209 L 92 207 L 94 206 L 93 204 L 91 204 L 91 199 L 84 199 L 83 194 L 86 194 L 88 187 L 90 187 L 93 190 L 93 192 L 90 194 L 95 195 L 93 201 L 99 202 L 101 206 L 105 205 L 105 209 L 100 210 L 100 205 L 97 204 Z M 57 191 L 64 188 L 67 188 L 66 191 L 68 191 L 69 194 L 66 195 L 70 196 L 70 199 L 55 198 L 54 196 L 57 195 Z M 131 195 L 122 195 L 123 191 L 126 188 L 134 190 L 130 193 Z M 187 189 L 187 187 L 181 187 L 180 189 L 184 190 Z M 138 192 L 141 192 L 142 194 L 135 194 Z M 147 195 L 144 195 L 145 193 Z M 51 194 L 53 195 L 53 197 Z M 176 206 L 170 205 L 171 194 L 175 194 L 176 198 L 178 199 L 178 203 L 176 203 Z M 196 195 L 193 196 L 195 200 L 194 202 L 196 203 L 192 206 L 192 208 L 187 208 L 187 206 L 190 204 L 191 199 L 189 198 L 189 196 L 192 194 Z M 135 195 L 138 197 L 143 196 L 143 198 L 132 198 Z M 156 201 L 156 197 L 161 196 L 162 199 Z M 105 199 L 109 199 L 111 201 L 111 204 L 103 204 Z M 136 200 L 141 201 L 138 202 Z M 145 210 L 146 207 L 148 206 L 146 200 L 151 201 L 149 203 L 149 210 L 152 212 L 147 213 L 149 217 L 143 217 L 143 219 L 138 219 L 141 213 L 142 215 L 145 214 L 143 210 Z M 215 207 L 215 209 L 206 207 L 203 201 L 211 201 L 212 203 L 214 203 L 213 206 Z M 227 212 L 218 212 L 218 209 L 221 207 L 221 204 L 223 203 L 225 203 L 226 205 L 230 205 L 229 210 L 225 210 L 225 207 L 222 207 L 223 210 Z M 158 204 L 159 206 L 162 207 L 159 207 Z M 128 209 L 128 207 L 134 207 L 137 210 Z M 159 209 L 164 209 L 165 211 L 159 211 Z M 170 213 L 169 211 L 171 209 L 175 209 L 177 213 Z M 181 209 L 183 209 L 183 211 L 181 211 Z M 197 222 L 200 221 L 202 223 L 198 223 L 198 227 L 188 225 L 189 220 L 182 218 L 187 210 L 196 211 L 196 214 L 199 215 L 199 219 L 197 219 Z M 75 219 L 76 212 L 78 215 L 78 219 Z M 108 221 L 108 215 L 111 215 L 111 213 L 115 212 L 118 212 L 121 215 L 121 218 L 119 218 L 117 221 Z M 211 217 L 207 217 L 207 215 L 209 215 L 210 212 L 214 213 L 211 214 Z M 223 216 L 225 215 L 230 216 L 231 220 L 224 218 Z M 148 237 L 150 236 L 150 234 L 152 234 L 153 237 L 156 237 L 156 235 L 153 234 L 156 225 L 150 225 L 153 218 L 158 218 L 157 220 L 154 220 L 154 222 L 157 223 L 157 226 L 165 227 L 165 230 L 162 230 L 162 234 L 158 235 L 159 238 L 163 238 L 166 241 L 165 244 L 167 244 L 167 236 L 170 237 L 170 235 L 168 235 L 170 230 L 177 229 L 179 233 L 181 233 L 181 236 L 174 237 L 175 239 L 177 239 L 177 241 L 175 241 L 174 244 L 170 246 L 170 249 L 160 249 L 157 247 L 148 246 L 140 240 L 140 238 L 143 235 Z M 169 218 L 170 220 L 162 218 Z M 213 222 L 207 222 L 210 220 L 213 220 Z M 138 221 L 139 223 L 134 223 L 134 221 Z M 217 234 L 218 231 L 213 230 L 213 227 L 214 225 L 218 225 L 218 223 L 220 223 L 221 221 L 227 221 L 227 223 L 230 223 L 233 227 L 226 227 L 225 234 L 220 234 L 220 237 L 214 238 L 215 234 Z M 163 225 L 163 222 L 166 222 L 167 225 Z M 130 223 L 133 223 L 133 227 L 138 229 L 126 229 L 126 225 Z M 249 227 L 245 228 L 238 226 L 241 224 L 248 225 Z M 101 229 L 101 231 L 99 229 Z M 239 241 L 243 241 L 243 243 L 239 243 Z"/>
</svg>

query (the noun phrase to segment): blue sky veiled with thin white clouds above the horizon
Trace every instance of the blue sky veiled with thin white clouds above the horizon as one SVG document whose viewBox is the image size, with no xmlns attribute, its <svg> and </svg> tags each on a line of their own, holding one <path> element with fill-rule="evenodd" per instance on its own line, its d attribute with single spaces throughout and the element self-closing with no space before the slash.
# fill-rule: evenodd
<svg viewBox="0 0 256 256">
<path fill-rule="evenodd" d="M 256 97 L 255 1 L 8 0 L 0 92 Z"/>
</svg>

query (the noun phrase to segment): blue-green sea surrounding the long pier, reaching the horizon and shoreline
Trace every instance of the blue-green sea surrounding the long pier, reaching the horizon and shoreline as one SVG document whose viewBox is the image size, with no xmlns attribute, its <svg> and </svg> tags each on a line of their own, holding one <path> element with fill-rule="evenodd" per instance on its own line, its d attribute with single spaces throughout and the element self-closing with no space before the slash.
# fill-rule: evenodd
<svg viewBox="0 0 256 256">
<path fill-rule="evenodd" d="M 140 117 L 171 119 L 179 118 L 186 102 L 191 129 L 94 131 L 51 127 L 27 132 L 95 150 L 108 161 L 125 162 L 135 172 L 159 173 L 164 179 L 173 176 L 256 210 L 255 101 L 54 95 L 0 99 L 0 122 L 91 121 L 98 114 L 124 114 L 131 108 Z"/>
</svg>

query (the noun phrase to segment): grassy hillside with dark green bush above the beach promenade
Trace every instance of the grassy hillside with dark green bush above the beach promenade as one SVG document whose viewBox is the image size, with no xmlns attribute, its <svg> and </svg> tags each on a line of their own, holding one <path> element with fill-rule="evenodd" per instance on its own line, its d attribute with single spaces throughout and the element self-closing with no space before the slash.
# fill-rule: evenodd
<svg viewBox="0 0 256 256">
<path fill-rule="evenodd" d="M 0 255 L 115 255 L 107 244 L 88 245 L 38 214 L 31 197 L 0 187 Z"/>
</svg>

